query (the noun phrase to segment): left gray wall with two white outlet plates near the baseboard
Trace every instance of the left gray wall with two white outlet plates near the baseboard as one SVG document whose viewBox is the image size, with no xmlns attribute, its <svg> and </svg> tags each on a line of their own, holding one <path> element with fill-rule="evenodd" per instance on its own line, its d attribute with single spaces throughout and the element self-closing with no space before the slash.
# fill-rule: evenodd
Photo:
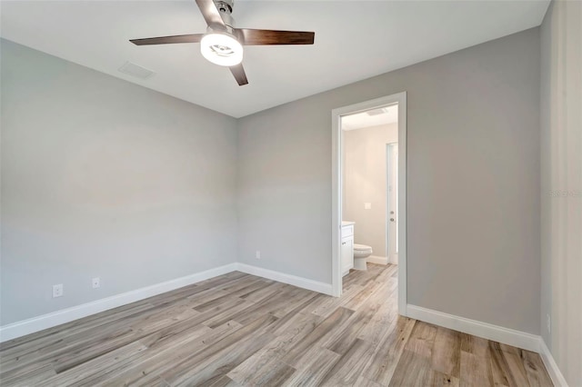
<svg viewBox="0 0 582 387">
<path fill-rule="evenodd" d="M 2 324 L 236 262 L 235 119 L 0 48 Z"/>
</svg>

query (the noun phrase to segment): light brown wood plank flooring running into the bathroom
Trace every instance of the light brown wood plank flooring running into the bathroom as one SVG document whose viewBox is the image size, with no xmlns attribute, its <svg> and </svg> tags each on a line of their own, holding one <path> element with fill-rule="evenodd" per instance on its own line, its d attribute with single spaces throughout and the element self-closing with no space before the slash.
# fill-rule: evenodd
<svg viewBox="0 0 582 387">
<path fill-rule="evenodd" d="M 228 273 L 0 345 L 3 386 L 550 386 L 537 353 L 398 316 L 396 266 L 329 297 Z"/>
</svg>

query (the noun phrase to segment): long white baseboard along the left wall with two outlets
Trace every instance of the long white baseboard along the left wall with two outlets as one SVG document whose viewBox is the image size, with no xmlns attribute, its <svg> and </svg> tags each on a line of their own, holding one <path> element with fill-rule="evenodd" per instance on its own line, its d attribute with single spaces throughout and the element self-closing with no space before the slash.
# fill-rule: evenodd
<svg viewBox="0 0 582 387">
<path fill-rule="evenodd" d="M 156 283 L 134 291 L 115 294 L 111 297 L 106 297 L 91 303 L 83 303 L 53 313 L 43 314 L 16 323 L 10 323 L 0 327 L 0 342 L 12 340 L 26 334 L 39 332 L 62 323 L 69 323 L 91 314 L 104 312 L 127 303 L 135 303 L 136 301 L 144 300 L 147 297 L 170 292 L 192 283 L 199 283 L 200 281 L 218 275 L 234 272 L 235 270 L 236 263 L 229 263 L 224 266 L 206 270 L 205 272 L 194 273 L 186 275 L 185 277 L 176 278 L 175 280 L 166 281 L 165 283 Z"/>
</svg>

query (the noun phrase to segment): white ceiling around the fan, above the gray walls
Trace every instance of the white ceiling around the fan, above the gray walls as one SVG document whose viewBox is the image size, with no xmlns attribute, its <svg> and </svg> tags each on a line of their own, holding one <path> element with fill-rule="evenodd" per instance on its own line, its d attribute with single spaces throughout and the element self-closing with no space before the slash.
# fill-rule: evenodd
<svg viewBox="0 0 582 387">
<path fill-rule="evenodd" d="M 197 44 L 131 38 L 204 33 L 194 0 L 2 1 L 0 35 L 218 112 L 241 117 L 541 24 L 549 0 L 236 0 L 236 25 L 315 31 L 315 45 L 248 46 L 238 86 Z M 132 62 L 156 74 L 138 79 Z"/>
</svg>

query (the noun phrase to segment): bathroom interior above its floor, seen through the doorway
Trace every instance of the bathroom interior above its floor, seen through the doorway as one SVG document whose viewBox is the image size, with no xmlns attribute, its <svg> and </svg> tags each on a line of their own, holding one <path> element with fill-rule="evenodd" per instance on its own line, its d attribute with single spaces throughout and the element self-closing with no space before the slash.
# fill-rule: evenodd
<svg viewBox="0 0 582 387">
<path fill-rule="evenodd" d="M 398 263 L 398 106 L 341 117 L 341 271 Z"/>
</svg>

